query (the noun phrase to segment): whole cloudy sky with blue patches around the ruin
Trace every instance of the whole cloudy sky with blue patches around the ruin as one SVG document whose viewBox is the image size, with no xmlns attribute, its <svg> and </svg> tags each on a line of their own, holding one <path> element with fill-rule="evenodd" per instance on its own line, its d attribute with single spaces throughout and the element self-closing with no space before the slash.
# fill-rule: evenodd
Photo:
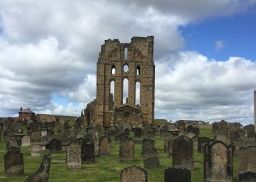
<svg viewBox="0 0 256 182">
<path fill-rule="evenodd" d="M 105 39 L 154 36 L 155 118 L 251 124 L 256 0 L 0 0 L 0 117 L 80 116 Z"/>
</svg>

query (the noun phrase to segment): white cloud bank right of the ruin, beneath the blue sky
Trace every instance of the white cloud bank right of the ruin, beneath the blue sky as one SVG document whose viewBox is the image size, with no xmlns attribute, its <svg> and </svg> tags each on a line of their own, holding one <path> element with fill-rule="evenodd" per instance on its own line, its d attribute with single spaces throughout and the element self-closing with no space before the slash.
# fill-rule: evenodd
<svg viewBox="0 0 256 182">
<path fill-rule="evenodd" d="M 166 119 L 252 122 L 256 63 L 178 52 L 156 67 L 156 112 Z"/>
</svg>

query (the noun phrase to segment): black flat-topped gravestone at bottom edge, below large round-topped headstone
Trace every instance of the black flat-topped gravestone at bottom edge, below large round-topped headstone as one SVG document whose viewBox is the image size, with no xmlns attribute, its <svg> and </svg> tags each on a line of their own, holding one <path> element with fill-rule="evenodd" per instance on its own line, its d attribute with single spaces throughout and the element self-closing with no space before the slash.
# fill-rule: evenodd
<svg viewBox="0 0 256 182">
<path fill-rule="evenodd" d="M 165 169 L 165 182 L 190 182 L 191 172 L 188 169 L 168 167 Z"/>
</svg>

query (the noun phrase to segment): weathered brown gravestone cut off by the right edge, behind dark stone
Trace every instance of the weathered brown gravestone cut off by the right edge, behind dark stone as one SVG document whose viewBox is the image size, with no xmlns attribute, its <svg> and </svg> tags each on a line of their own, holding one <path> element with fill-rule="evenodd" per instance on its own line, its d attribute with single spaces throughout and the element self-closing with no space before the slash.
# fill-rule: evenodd
<svg viewBox="0 0 256 182">
<path fill-rule="evenodd" d="M 238 160 L 238 173 L 252 171 L 256 173 L 256 146 L 247 146 L 241 151 Z"/>
</svg>

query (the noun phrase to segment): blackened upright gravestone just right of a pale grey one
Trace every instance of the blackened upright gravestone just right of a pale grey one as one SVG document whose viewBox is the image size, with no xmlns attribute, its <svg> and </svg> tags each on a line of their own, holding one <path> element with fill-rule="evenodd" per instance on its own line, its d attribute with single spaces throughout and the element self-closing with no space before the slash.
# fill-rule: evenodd
<svg viewBox="0 0 256 182">
<path fill-rule="evenodd" d="M 95 162 L 94 156 L 94 141 L 89 139 L 84 139 L 81 143 L 81 157 L 82 163 L 92 163 Z"/>
</svg>

